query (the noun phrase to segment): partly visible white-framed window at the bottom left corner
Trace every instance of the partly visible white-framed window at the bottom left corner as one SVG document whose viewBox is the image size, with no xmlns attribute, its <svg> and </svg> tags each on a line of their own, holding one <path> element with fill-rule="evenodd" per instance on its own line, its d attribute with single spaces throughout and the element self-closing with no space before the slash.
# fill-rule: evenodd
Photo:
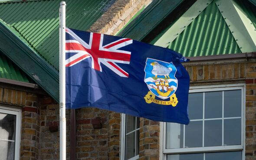
<svg viewBox="0 0 256 160">
<path fill-rule="evenodd" d="M 0 160 L 20 159 L 20 110 L 0 106 Z"/>
</svg>

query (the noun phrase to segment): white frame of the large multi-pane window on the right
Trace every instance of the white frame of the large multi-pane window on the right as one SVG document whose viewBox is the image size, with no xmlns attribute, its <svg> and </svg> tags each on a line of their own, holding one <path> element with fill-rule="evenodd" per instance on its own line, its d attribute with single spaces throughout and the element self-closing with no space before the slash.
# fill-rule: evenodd
<svg viewBox="0 0 256 160">
<path fill-rule="evenodd" d="M 174 148 L 166 149 L 166 122 L 160 122 L 160 156 L 159 160 L 167 160 L 167 154 L 182 153 L 206 153 L 206 152 L 222 152 L 222 151 L 242 151 L 242 160 L 245 160 L 245 102 L 246 102 L 246 85 L 226 84 L 226 85 L 202 85 L 190 86 L 189 93 L 208 92 L 208 91 L 230 91 L 241 90 L 241 145 L 217 146 L 217 147 L 191 147 L 191 148 Z M 215 118 L 214 118 L 215 119 Z M 220 118 L 224 119 L 224 118 Z M 228 119 L 228 118 L 225 118 Z"/>
</svg>

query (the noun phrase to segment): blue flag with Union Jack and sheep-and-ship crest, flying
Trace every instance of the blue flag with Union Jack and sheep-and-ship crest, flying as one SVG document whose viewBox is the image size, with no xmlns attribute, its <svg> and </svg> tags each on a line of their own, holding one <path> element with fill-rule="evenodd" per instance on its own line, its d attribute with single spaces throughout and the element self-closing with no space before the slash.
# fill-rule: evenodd
<svg viewBox="0 0 256 160">
<path fill-rule="evenodd" d="M 66 108 L 188 124 L 186 61 L 171 49 L 66 28 Z"/>
</svg>

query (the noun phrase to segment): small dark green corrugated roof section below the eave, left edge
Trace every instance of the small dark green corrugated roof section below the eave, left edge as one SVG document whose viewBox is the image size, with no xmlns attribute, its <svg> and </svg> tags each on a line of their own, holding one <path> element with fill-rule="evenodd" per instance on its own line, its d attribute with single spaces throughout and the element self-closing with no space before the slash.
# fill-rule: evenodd
<svg viewBox="0 0 256 160">
<path fill-rule="evenodd" d="M 7 78 L 16 81 L 30 82 L 26 74 L 24 74 L 10 59 L 7 59 L 0 52 L 0 78 Z"/>
</svg>

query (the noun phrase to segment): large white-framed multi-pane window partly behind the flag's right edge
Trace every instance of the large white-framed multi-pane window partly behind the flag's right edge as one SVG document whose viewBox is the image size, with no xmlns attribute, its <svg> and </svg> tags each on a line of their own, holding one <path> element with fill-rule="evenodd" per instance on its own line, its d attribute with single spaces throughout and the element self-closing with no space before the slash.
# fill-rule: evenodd
<svg viewBox="0 0 256 160">
<path fill-rule="evenodd" d="M 190 89 L 190 124 L 163 124 L 165 160 L 243 160 L 244 85 Z"/>
</svg>

